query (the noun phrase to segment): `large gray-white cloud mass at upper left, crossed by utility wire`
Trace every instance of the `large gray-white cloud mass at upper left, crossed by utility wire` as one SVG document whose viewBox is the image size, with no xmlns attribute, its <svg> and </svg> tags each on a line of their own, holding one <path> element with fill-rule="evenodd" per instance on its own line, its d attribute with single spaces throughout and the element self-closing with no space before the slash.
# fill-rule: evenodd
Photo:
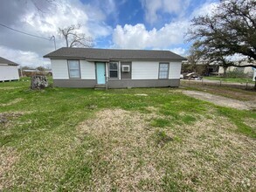
<svg viewBox="0 0 256 192">
<path fill-rule="evenodd" d="M 111 3 L 112 0 L 108 1 Z M 54 35 L 57 48 L 65 45 L 58 35 L 59 27 L 82 24 L 81 31 L 94 39 L 104 38 L 112 32 L 112 28 L 105 24 L 106 13 L 91 4 L 81 3 L 80 0 L 59 0 L 57 5 L 40 0 L 35 2 L 44 9 L 43 12 L 36 10 L 31 1 L 3 0 L 0 23 L 39 37 L 50 38 Z M 54 50 L 52 41 L 33 38 L 3 27 L 0 42 L 1 57 L 6 58 L 5 54 L 8 53 L 10 60 L 23 65 L 41 65 L 43 56 Z"/>
</svg>

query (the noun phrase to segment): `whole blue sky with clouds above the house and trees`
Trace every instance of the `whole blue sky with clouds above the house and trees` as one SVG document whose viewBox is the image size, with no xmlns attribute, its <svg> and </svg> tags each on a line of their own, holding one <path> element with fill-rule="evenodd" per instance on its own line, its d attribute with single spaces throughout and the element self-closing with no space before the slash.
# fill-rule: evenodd
<svg viewBox="0 0 256 192">
<path fill-rule="evenodd" d="M 59 28 L 81 24 L 95 48 L 170 50 L 188 54 L 190 20 L 210 14 L 218 0 L 1 0 L 0 57 L 22 66 L 51 67 L 43 56 L 65 46 Z M 38 10 L 39 9 L 39 10 Z M 46 39 L 43 39 L 46 38 Z"/>
</svg>

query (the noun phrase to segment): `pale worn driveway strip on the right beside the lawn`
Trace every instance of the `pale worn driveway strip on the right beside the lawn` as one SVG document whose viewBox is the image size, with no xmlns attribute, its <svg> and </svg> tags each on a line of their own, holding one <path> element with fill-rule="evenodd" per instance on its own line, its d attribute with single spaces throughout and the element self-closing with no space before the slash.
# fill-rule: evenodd
<svg viewBox="0 0 256 192">
<path fill-rule="evenodd" d="M 226 98 L 226 97 L 211 94 L 211 93 L 204 93 L 204 92 L 197 92 L 197 91 L 183 91 L 183 93 L 196 99 L 209 101 L 218 106 L 227 106 L 227 107 L 232 107 L 239 110 L 256 109 L 256 102 L 254 100 L 241 101 L 241 100 L 230 99 L 230 98 Z"/>
</svg>

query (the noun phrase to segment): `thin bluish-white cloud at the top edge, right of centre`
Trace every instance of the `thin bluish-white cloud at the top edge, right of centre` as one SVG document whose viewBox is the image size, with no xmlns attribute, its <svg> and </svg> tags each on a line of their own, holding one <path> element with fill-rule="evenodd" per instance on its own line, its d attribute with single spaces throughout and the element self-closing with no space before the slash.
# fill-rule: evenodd
<svg viewBox="0 0 256 192">
<path fill-rule="evenodd" d="M 176 14 L 182 17 L 183 11 L 190 4 L 190 0 L 141 0 L 141 3 L 145 10 L 146 21 L 149 24 L 154 24 L 161 19 L 159 12 Z"/>
</svg>

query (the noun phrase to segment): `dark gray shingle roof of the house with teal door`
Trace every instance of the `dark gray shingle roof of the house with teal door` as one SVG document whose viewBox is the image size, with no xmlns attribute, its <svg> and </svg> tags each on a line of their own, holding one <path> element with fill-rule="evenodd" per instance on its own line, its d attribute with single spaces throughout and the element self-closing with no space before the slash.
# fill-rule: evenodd
<svg viewBox="0 0 256 192">
<path fill-rule="evenodd" d="M 186 60 L 171 51 L 115 50 L 63 47 L 45 55 L 44 58 L 84 58 L 94 60 L 139 59 L 139 60 Z"/>
</svg>

